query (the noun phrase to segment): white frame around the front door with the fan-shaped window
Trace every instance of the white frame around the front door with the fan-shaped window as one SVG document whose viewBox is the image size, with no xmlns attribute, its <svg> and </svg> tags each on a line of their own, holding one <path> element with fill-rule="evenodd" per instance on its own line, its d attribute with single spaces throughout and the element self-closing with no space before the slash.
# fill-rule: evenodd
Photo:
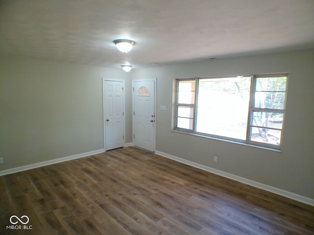
<svg viewBox="0 0 314 235">
<path fill-rule="evenodd" d="M 132 80 L 132 145 L 134 146 L 134 82 L 148 82 L 148 81 L 154 81 L 154 113 L 155 113 L 155 122 L 154 122 L 154 151 L 156 151 L 156 123 L 157 123 L 157 107 L 156 107 L 156 101 L 157 101 L 157 78 L 152 79 L 133 79 Z"/>
</svg>

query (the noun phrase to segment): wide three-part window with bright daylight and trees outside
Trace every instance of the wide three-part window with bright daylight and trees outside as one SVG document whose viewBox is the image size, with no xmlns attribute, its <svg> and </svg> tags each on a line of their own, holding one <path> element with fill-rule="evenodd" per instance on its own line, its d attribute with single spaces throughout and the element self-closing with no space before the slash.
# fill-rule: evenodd
<svg viewBox="0 0 314 235">
<path fill-rule="evenodd" d="M 175 130 L 280 149 L 287 78 L 177 79 Z"/>
</svg>

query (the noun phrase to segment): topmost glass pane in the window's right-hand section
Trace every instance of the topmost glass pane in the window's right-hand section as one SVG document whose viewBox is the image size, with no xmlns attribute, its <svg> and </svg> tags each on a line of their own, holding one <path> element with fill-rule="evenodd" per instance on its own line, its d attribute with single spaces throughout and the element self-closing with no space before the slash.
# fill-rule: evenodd
<svg viewBox="0 0 314 235">
<path fill-rule="evenodd" d="M 287 77 L 258 77 L 256 78 L 256 91 L 286 91 Z"/>
</svg>

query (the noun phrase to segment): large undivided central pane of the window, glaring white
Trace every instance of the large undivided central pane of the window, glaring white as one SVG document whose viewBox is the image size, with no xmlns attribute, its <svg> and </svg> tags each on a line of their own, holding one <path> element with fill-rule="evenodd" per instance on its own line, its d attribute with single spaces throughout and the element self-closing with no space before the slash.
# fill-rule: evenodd
<svg viewBox="0 0 314 235">
<path fill-rule="evenodd" d="M 246 139 L 250 77 L 200 79 L 196 131 Z"/>
</svg>

